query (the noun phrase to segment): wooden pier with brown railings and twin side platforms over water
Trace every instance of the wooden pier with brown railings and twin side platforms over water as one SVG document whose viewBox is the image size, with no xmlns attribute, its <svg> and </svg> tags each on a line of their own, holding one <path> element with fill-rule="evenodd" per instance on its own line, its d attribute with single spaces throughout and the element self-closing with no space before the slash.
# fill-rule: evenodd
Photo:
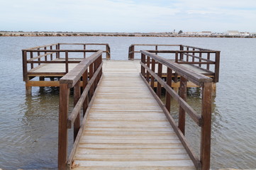
<svg viewBox="0 0 256 170">
<path fill-rule="evenodd" d="M 108 54 L 110 49 L 108 45 L 106 47 L 108 50 L 105 52 Z M 48 60 L 31 62 L 42 56 L 38 53 L 39 57 L 33 60 L 31 54 L 33 56 L 35 52 L 44 52 L 45 55 L 54 52 L 45 46 L 43 50 L 38 50 L 38 47 L 35 49 L 23 50 L 23 67 L 24 64 L 44 64 L 38 65 L 40 69 L 49 67 L 48 64 L 64 64 L 66 71 L 64 75 L 45 72 L 45 69 L 43 74 L 35 74 L 33 70 L 23 74 L 26 83 L 32 81 L 32 77 L 43 77 L 37 83 L 29 82 L 27 87 L 31 84 L 60 86 L 58 169 L 210 168 L 211 95 L 213 84 L 218 81 L 216 67 L 220 52 L 196 47 L 193 47 L 194 50 L 179 49 L 175 52 L 140 50 L 140 60 L 115 61 L 102 60 L 103 50 L 60 50 L 56 46 L 57 62 L 50 63 Z M 65 60 L 58 52 L 64 52 Z M 69 52 L 93 54 L 70 59 Z M 132 52 L 135 52 L 134 48 L 130 54 Z M 160 57 L 158 54 L 162 52 L 174 54 L 174 60 Z M 187 56 L 185 60 L 184 55 Z M 213 55 L 214 61 L 211 60 Z M 196 69 L 199 66 L 194 64 L 205 64 L 206 67 L 201 69 L 204 73 L 182 65 L 188 62 L 192 62 L 190 67 Z M 74 63 L 76 65 L 72 66 Z M 214 72 L 210 71 L 210 65 L 214 65 Z M 30 67 L 38 70 L 32 65 Z M 23 71 L 26 72 L 26 69 L 23 68 Z M 44 84 L 47 77 L 52 82 Z M 196 113 L 186 102 L 188 84 L 201 88 L 201 113 Z M 178 85 L 179 93 L 174 89 Z M 163 88 L 166 90 L 165 103 L 160 99 L 163 97 Z M 70 89 L 74 89 L 74 108 L 71 113 L 68 104 Z M 179 103 L 177 123 L 170 114 L 171 98 Z M 200 155 L 193 152 L 186 140 L 186 115 L 201 128 Z M 69 128 L 74 130 L 74 144 L 68 156 Z"/>
</svg>

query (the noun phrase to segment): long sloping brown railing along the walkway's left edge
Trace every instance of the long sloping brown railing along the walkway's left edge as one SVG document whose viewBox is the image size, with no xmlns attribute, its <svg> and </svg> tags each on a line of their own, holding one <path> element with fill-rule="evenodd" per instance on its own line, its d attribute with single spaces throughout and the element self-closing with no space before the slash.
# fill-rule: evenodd
<svg viewBox="0 0 256 170">
<path fill-rule="evenodd" d="M 60 113 L 58 136 L 58 169 L 71 166 L 75 149 L 82 136 L 87 115 L 94 100 L 94 91 L 102 74 L 102 50 L 82 60 L 74 69 L 60 79 Z M 88 81 L 89 71 L 89 81 Z M 80 81 L 82 79 L 82 82 Z M 81 86 L 82 84 L 82 91 Z M 69 91 L 74 88 L 74 108 L 69 114 Z M 82 94 L 81 94 L 82 92 Z M 83 108 L 83 120 L 80 125 L 80 111 Z M 67 129 L 74 127 L 74 145 L 67 159 Z"/>
</svg>

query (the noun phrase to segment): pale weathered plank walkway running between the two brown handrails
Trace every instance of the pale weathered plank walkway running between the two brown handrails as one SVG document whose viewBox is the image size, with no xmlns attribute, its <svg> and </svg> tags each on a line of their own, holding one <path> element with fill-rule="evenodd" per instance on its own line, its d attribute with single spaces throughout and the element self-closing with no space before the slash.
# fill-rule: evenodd
<svg viewBox="0 0 256 170">
<path fill-rule="evenodd" d="M 104 62 L 72 169 L 195 169 L 138 62 Z"/>
</svg>

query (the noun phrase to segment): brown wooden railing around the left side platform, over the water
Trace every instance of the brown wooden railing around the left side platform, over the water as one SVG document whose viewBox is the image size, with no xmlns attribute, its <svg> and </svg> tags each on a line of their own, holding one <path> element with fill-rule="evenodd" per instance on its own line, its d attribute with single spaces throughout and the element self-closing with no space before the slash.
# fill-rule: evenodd
<svg viewBox="0 0 256 170">
<path fill-rule="evenodd" d="M 66 48 L 66 45 L 69 45 L 69 49 Z M 87 50 L 88 45 L 93 46 L 106 46 L 106 50 L 103 51 L 106 53 L 106 60 L 110 60 L 110 47 L 108 44 L 96 44 L 96 43 L 57 43 L 52 45 L 44 45 L 38 47 L 32 47 L 26 50 L 22 50 L 23 52 L 23 81 L 28 81 L 29 77 L 33 77 L 34 75 L 45 75 L 49 74 L 48 72 L 43 73 L 33 73 L 28 72 L 30 69 L 34 69 L 38 67 L 40 64 L 55 64 L 55 63 L 64 63 L 65 64 L 65 72 L 55 72 L 54 75 L 62 77 L 67 74 L 69 70 L 69 63 L 79 63 L 82 59 L 86 58 L 87 52 L 97 52 L 96 50 Z M 63 47 L 62 47 L 63 46 Z M 80 49 L 70 49 L 70 46 L 81 47 Z M 82 55 L 78 55 L 74 58 L 69 57 L 71 53 L 78 53 Z M 80 59 L 80 60 L 79 60 Z M 53 74 L 53 73 L 52 73 Z"/>
</svg>

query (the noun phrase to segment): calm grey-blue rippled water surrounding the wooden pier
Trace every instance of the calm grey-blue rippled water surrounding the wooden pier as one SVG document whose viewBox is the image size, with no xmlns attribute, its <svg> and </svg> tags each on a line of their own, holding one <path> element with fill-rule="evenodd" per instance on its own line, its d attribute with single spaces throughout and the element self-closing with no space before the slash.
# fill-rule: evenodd
<svg viewBox="0 0 256 170">
<path fill-rule="evenodd" d="M 256 39 L 123 37 L 0 37 L 0 168 L 57 168 L 58 89 L 34 87 L 32 96 L 26 96 L 21 60 L 21 49 L 56 42 L 108 43 L 112 60 L 127 60 L 133 43 L 221 50 L 212 103 L 211 169 L 256 169 Z M 200 99 L 198 89 L 189 89 L 194 108 Z M 175 110 L 172 114 L 177 117 Z M 200 133 L 190 122 L 188 118 L 186 135 L 198 150 Z"/>
</svg>

